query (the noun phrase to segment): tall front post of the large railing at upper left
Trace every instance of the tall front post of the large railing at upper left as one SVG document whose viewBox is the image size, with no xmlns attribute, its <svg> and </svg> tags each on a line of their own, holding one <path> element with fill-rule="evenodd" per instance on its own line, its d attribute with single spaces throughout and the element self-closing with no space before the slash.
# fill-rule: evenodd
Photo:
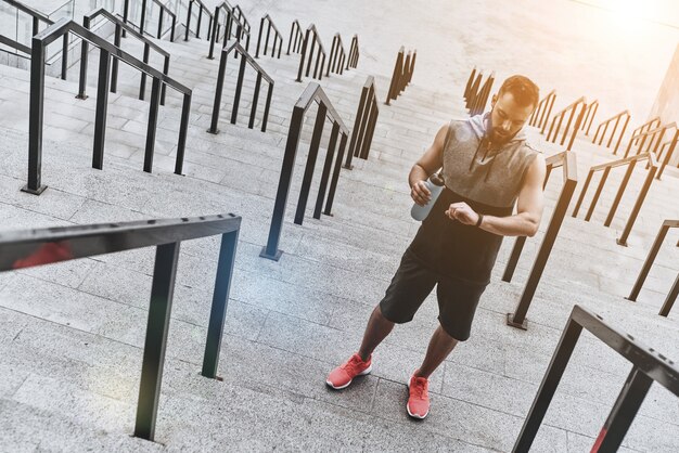
<svg viewBox="0 0 679 453">
<path fill-rule="evenodd" d="M 31 38 L 30 51 L 30 104 L 28 114 L 28 181 L 22 189 L 40 195 L 42 185 L 42 121 L 44 117 L 44 47 L 42 41 Z"/>
</svg>

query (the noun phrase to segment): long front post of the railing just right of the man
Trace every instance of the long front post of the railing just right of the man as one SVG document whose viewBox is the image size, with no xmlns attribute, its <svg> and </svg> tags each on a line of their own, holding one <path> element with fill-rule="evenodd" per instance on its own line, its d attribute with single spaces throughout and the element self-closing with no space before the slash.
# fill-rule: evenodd
<svg viewBox="0 0 679 453">
<path fill-rule="evenodd" d="M 565 164 L 567 166 L 566 168 L 575 168 L 575 155 L 566 155 L 565 158 L 571 159 L 569 163 Z M 554 242 L 556 241 L 556 236 L 559 235 L 559 230 L 561 229 L 563 219 L 566 216 L 566 210 L 568 209 L 568 205 L 573 198 L 576 184 L 577 179 L 571 179 L 569 177 L 564 182 L 561 194 L 559 195 L 559 200 L 554 207 L 554 212 L 552 213 L 552 218 L 547 226 L 545 238 L 542 240 L 542 244 L 540 244 L 538 256 L 535 259 L 533 268 L 530 269 L 530 274 L 528 275 L 528 281 L 526 282 L 526 286 L 521 295 L 518 306 L 516 307 L 513 315 L 512 313 L 508 313 L 508 324 L 513 327 L 520 327 L 523 329 L 526 328 L 526 313 L 528 312 L 528 308 L 530 307 L 530 302 L 535 296 L 538 283 L 540 282 L 540 277 L 545 271 L 545 266 L 547 264 Z"/>
</svg>

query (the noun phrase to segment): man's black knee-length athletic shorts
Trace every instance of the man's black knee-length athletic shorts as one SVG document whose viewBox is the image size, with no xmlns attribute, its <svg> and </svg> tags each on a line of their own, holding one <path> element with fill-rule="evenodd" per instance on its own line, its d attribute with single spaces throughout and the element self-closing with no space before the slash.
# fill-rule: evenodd
<svg viewBox="0 0 679 453">
<path fill-rule="evenodd" d="M 436 286 L 438 322 L 448 335 L 464 341 L 470 337 L 476 306 L 486 285 L 445 277 L 425 267 L 409 249 L 380 302 L 382 314 L 394 323 L 412 320 Z"/>
</svg>

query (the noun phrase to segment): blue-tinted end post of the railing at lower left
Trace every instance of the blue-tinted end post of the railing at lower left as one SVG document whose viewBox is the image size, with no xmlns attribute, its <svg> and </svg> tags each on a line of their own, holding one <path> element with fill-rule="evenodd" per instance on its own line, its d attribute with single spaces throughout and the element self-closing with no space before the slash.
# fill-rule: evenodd
<svg viewBox="0 0 679 453">
<path fill-rule="evenodd" d="M 209 313 L 207 327 L 207 340 L 205 341 L 205 354 L 203 357 L 203 370 L 201 374 L 214 379 L 217 377 L 219 365 L 219 351 L 221 350 L 221 336 L 227 319 L 227 306 L 233 280 L 235 264 L 235 251 L 239 240 L 239 231 L 221 235 L 219 247 L 219 262 L 217 263 L 217 276 L 215 279 L 215 292 Z"/>
</svg>

